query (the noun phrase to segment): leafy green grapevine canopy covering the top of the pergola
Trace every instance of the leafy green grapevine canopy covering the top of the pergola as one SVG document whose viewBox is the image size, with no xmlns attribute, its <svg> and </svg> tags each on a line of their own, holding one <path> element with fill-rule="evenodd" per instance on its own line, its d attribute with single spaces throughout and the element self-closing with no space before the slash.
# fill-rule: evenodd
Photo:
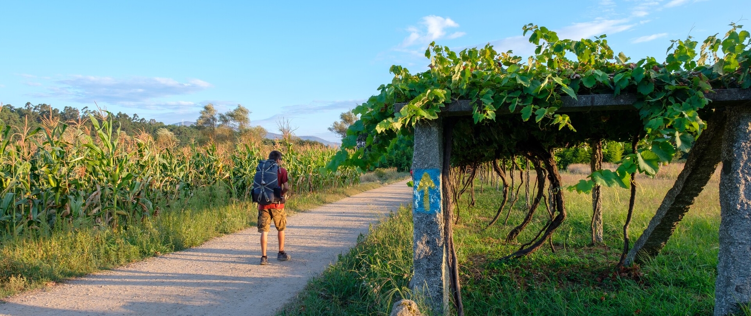
<svg viewBox="0 0 751 316">
<path fill-rule="evenodd" d="M 461 155 L 452 157 L 453 165 L 516 155 L 517 144 L 529 137 L 546 148 L 638 137 L 638 152 L 623 158 L 615 173 L 595 173 L 578 185 L 581 191 L 595 182 L 627 188 L 630 173 L 654 175 L 677 152 L 689 151 L 711 116 L 713 90 L 751 86 L 751 36 L 741 27 L 733 23 L 725 36 L 701 43 L 690 37 L 671 41 L 665 62 L 615 55 L 605 35 L 572 41 L 532 24 L 523 26 L 537 45 L 528 59 L 490 45 L 456 53 L 431 44 L 425 52 L 430 70 L 410 74 L 392 66 L 394 80 L 355 108 L 360 119 L 330 168 L 375 167 L 409 144 L 416 122 L 457 111 L 472 116 L 457 119 L 454 152 Z M 599 101 L 610 103 L 602 107 L 608 113 L 587 107 Z M 394 107 L 400 103 L 405 105 Z M 504 113 L 514 115 L 499 116 Z M 365 146 L 357 146 L 358 137 L 366 138 Z"/>
</svg>

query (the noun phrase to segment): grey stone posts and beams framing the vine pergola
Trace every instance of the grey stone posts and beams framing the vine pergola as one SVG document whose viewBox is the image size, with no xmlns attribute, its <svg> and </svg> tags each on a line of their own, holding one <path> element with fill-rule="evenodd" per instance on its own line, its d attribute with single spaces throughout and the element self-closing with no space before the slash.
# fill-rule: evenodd
<svg viewBox="0 0 751 316">
<path fill-rule="evenodd" d="M 713 117 L 704 136 L 694 144 L 683 171 L 678 176 L 673 188 L 668 191 L 665 200 L 650 221 L 647 230 L 629 251 L 626 264 L 635 260 L 653 257 L 668 242 L 683 215 L 689 210 L 695 197 L 701 193 L 704 185 L 723 161 L 721 173 L 720 206 L 722 207 L 722 225 L 720 227 L 719 263 L 717 266 L 716 303 L 734 303 L 736 288 L 743 286 L 738 275 L 749 275 L 751 256 L 737 256 L 751 252 L 751 201 L 748 189 L 751 183 L 751 89 L 718 90 L 708 95 L 713 101 L 711 108 L 724 114 Z M 565 98 L 558 113 L 588 112 L 606 114 L 611 111 L 635 111 L 635 95 L 580 95 L 577 99 Z M 446 121 L 454 116 L 472 115 L 472 104 L 477 100 L 460 100 L 448 104 L 439 119 L 421 122 L 415 125 L 415 156 L 412 162 L 415 170 L 415 191 L 418 191 L 418 179 L 423 170 L 435 170 L 436 175 L 448 173 L 446 169 L 445 140 Z M 405 104 L 395 104 L 398 112 Z M 429 173 L 430 174 L 430 173 Z M 434 176 L 437 178 L 436 176 Z M 450 304 L 450 278 L 447 255 L 449 242 L 445 236 L 445 226 L 450 225 L 451 218 L 444 214 L 447 203 L 433 203 L 443 200 L 445 195 L 438 194 L 445 190 L 445 182 L 436 181 L 435 197 L 428 197 L 436 209 L 422 212 L 418 206 L 424 202 L 425 195 L 415 193 L 413 209 L 415 224 L 415 276 L 413 284 L 427 284 L 427 290 L 433 299 L 440 300 L 445 308 Z M 424 254 L 424 255 L 423 255 Z"/>
</svg>

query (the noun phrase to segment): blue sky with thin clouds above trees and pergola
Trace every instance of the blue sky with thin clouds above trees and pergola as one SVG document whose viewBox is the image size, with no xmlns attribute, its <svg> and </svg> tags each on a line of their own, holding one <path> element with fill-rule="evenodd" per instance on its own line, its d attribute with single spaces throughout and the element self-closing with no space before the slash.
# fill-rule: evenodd
<svg viewBox="0 0 751 316">
<path fill-rule="evenodd" d="M 339 113 L 413 72 L 430 41 L 529 56 L 521 26 L 562 38 L 608 34 L 616 52 L 664 60 L 751 17 L 749 0 L 578 2 L 34 2 L 0 0 L 0 102 L 100 107 L 167 124 L 207 103 L 248 107 L 253 125 L 338 140 Z"/>
</svg>

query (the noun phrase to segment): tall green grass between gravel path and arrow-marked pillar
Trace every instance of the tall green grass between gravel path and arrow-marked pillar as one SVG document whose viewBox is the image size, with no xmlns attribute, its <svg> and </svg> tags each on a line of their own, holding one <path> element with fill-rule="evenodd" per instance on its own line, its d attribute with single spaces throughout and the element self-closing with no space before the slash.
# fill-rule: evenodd
<svg viewBox="0 0 751 316">
<path fill-rule="evenodd" d="M 279 315 L 388 315 L 391 305 L 412 298 L 412 211 L 400 208 L 335 264 L 312 278 Z"/>
</svg>

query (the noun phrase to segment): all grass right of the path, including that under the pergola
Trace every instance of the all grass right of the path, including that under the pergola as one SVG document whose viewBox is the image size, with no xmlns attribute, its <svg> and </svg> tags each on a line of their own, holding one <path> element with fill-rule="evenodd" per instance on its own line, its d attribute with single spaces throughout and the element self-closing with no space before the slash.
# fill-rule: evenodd
<svg viewBox="0 0 751 316">
<path fill-rule="evenodd" d="M 581 176 L 564 174 L 566 183 Z M 632 242 L 647 227 L 672 179 L 638 179 Z M 468 315 L 704 315 L 712 314 L 719 227 L 717 179 L 707 185 L 658 257 L 614 272 L 623 246 L 628 191 L 605 189 L 605 245 L 590 246 L 589 194 L 566 192 L 569 217 L 553 236 L 556 253 L 546 245 L 530 257 L 499 261 L 517 250 L 505 235 L 523 218 L 523 198 L 508 226 L 482 230 L 495 215 L 500 194 L 484 187 L 476 206 L 460 202 L 455 227 L 463 302 Z M 547 220 L 539 209 L 518 237 L 526 242 Z M 280 313 L 388 314 L 391 303 L 409 297 L 406 282 L 412 258 L 412 218 L 406 210 L 373 227 L 369 236 L 330 266 Z"/>
</svg>

